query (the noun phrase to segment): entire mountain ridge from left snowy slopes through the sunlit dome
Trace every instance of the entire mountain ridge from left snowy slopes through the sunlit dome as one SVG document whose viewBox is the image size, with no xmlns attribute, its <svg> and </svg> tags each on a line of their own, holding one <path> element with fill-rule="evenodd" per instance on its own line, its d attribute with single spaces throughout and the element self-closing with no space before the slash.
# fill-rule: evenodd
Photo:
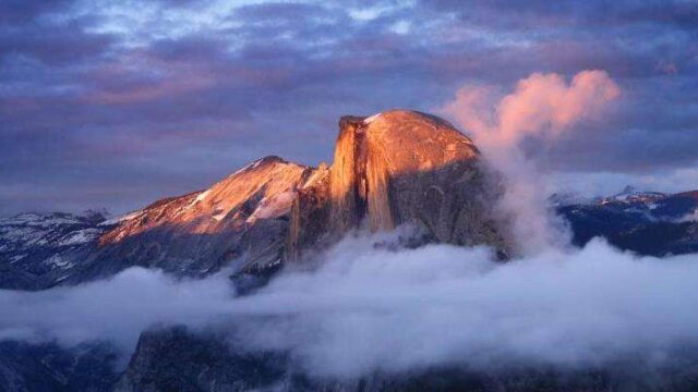
<svg viewBox="0 0 698 392">
<path fill-rule="evenodd" d="M 77 284 L 134 266 L 193 278 L 227 267 L 244 282 L 350 230 L 406 223 L 421 231 L 422 242 L 489 244 L 505 258 L 505 235 L 484 201 L 495 195 L 479 164 L 472 142 L 433 115 L 344 117 L 329 168 L 266 157 L 207 189 L 116 220 L 0 221 L 0 289 Z"/>
</svg>

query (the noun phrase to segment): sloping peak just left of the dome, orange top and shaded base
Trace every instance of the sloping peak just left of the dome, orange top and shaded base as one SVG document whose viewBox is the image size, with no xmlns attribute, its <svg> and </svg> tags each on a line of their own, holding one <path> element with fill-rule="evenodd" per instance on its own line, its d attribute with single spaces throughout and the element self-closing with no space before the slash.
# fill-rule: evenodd
<svg viewBox="0 0 698 392">
<path fill-rule="evenodd" d="M 203 277 L 231 262 L 237 270 L 280 262 L 296 188 L 310 174 L 266 157 L 206 191 L 157 201 L 99 238 L 86 274 L 143 266 Z"/>
</svg>

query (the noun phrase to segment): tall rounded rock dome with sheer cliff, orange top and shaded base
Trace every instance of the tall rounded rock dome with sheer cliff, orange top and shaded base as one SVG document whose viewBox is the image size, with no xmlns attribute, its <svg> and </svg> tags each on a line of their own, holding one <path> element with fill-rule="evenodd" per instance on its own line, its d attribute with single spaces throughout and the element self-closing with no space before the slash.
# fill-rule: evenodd
<svg viewBox="0 0 698 392">
<path fill-rule="evenodd" d="M 489 215 L 493 194 L 480 152 L 453 125 L 393 110 L 344 117 L 339 128 L 332 167 L 321 168 L 293 201 L 290 259 L 362 225 L 382 231 L 405 223 L 436 242 L 506 249 Z"/>
</svg>

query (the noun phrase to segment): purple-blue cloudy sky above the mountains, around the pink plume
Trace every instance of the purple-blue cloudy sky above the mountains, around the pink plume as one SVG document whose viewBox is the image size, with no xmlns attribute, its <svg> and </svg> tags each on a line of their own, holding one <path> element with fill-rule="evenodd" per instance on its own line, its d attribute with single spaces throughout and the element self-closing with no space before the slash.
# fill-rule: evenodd
<svg viewBox="0 0 698 392">
<path fill-rule="evenodd" d="M 0 215 L 120 213 L 267 155 L 328 162 L 344 114 L 460 124 L 464 89 L 594 71 L 603 115 L 526 154 L 580 192 L 698 188 L 696 1 L 5 0 Z"/>
</svg>

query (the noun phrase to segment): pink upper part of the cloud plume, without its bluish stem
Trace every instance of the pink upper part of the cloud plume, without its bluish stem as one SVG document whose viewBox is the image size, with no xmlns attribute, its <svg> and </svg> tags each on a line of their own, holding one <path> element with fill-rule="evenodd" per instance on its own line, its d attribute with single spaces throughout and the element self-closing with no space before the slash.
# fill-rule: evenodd
<svg viewBox="0 0 698 392">
<path fill-rule="evenodd" d="M 527 136 L 554 138 L 576 123 L 598 117 L 621 95 L 604 71 L 582 71 L 569 84 L 555 73 L 534 73 L 498 101 L 490 86 L 465 86 L 444 111 L 476 142 L 518 145 Z"/>
</svg>

